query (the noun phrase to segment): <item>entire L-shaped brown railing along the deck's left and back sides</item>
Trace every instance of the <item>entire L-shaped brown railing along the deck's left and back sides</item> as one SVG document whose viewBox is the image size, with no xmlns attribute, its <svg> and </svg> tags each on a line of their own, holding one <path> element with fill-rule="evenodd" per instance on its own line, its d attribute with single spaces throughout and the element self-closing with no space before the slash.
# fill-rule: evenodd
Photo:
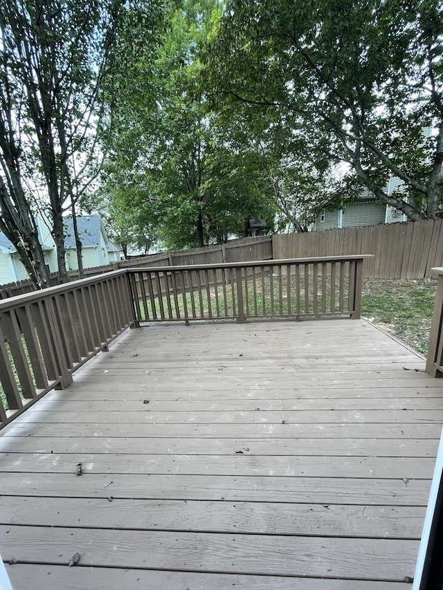
<svg viewBox="0 0 443 590">
<path fill-rule="evenodd" d="M 128 326 L 358 318 L 367 256 L 128 268 L 0 301 L 0 427 Z"/>
</svg>

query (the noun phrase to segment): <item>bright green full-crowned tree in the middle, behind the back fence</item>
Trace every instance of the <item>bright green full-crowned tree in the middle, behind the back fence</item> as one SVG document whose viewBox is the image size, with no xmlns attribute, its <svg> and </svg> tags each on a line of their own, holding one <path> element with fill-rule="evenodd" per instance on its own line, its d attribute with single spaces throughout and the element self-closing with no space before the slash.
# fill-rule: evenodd
<svg viewBox="0 0 443 590">
<path fill-rule="evenodd" d="M 145 227 L 155 227 L 170 248 L 226 239 L 247 216 L 272 209 L 257 194 L 252 198 L 244 175 L 232 174 L 233 154 L 199 88 L 198 46 L 215 6 L 171 3 L 156 53 L 147 56 L 137 46 L 126 58 L 134 84 L 124 93 L 123 124 L 106 165 L 102 190 L 121 212 L 123 200 L 127 209 L 136 203 Z"/>
</svg>

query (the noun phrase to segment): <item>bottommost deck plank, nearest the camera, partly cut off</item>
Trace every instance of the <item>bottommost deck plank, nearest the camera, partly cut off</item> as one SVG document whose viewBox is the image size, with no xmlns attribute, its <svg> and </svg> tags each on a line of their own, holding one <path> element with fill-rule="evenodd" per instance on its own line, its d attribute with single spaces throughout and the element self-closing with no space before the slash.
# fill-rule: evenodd
<svg viewBox="0 0 443 590">
<path fill-rule="evenodd" d="M 288 578 L 273 575 L 241 575 L 156 571 L 153 569 L 115 569 L 66 567 L 66 565 L 14 564 L 6 571 L 15 590 L 122 590 L 143 588 L 183 590 L 204 588 L 220 590 L 410 590 L 406 582 L 371 582 L 368 580 L 324 580 Z"/>
</svg>

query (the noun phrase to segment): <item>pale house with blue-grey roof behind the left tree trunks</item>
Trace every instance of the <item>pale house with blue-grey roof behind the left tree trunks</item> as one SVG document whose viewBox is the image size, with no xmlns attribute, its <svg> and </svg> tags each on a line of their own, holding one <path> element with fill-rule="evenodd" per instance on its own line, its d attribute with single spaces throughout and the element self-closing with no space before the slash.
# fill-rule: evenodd
<svg viewBox="0 0 443 590">
<path fill-rule="evenodd" d="M 42 218 L 36 219 L 39 241 L 42 244 L 44 259 L 50 273 L 57 272 L 57 252 L 48 224 Z M 103 266 L 124 259 L 123 250 L 108 239 L 100 215 L 84 215 L 77 218 L 78 232 L 82 241 L 83 267 Z M 64 222 L 66 235 L 66 268 L 77 270 L 77 252 L 72 219 Z M 15 246 L 0 232 L 0 284 L 8 284 L 28 278 L 21 264 Z"/>
</svg>

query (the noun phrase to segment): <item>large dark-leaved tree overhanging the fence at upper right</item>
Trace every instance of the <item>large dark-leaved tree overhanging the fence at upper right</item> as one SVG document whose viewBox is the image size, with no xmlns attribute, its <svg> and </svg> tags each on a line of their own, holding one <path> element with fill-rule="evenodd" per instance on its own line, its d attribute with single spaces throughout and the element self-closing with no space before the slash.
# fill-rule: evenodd
<svg viewBox="0 0 443 590">
<path fill-rule="evenodd" d="M 218 104 L 278 110 L 295 136 L 309 137 L 314 158 L 352 166 L 409 219 L 433 219 L 442 201 L 442 10 L 437 0 L 232 0 L 213 19 L 206 84 Z M 386 192 L 390 175 L 402 191 Z"/>
</svg>

